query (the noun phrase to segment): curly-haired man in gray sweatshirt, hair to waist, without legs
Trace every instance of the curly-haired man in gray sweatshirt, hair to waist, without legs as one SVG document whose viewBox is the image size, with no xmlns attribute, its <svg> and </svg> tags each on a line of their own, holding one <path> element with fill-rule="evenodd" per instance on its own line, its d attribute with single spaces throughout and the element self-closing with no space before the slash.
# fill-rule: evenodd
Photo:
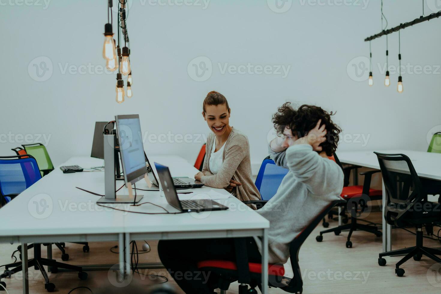
<svg viewBox="0 0 441 294">
<path fill-rule="evenodd" d="M 285 263 L 290 242 L 323 208 L 340 199 L 343 171 L 328 156 L 337 148 L 341 129 L 331 115 L 313 105 L 295 109 L 289 102 L 273 115 L 274 127 L 282 138 L 269 143 L 269 156 L 289 172 L 276 195 L 257 211 L 270 222 L 270 263 Z M 285 209 L 280 211 L 280 207 Z M 254 239 L 262 252 L 260 238 Z"/>
</svg>

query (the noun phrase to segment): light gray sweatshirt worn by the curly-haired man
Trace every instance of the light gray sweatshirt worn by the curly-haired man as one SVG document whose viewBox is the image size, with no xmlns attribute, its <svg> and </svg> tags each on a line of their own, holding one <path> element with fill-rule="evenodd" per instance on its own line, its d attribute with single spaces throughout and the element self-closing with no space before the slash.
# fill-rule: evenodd
<svg viewBox="0 0 441 294">
<path fill-rule="evenodd" d="M 330 202 L 341 199 L 343 171 L 321 157 L 310 145 L 293 145 L 269 156 L 277 165 L 289 168 L 276 195 L 257 212 L 269 220 L 269 263 L 285 263 L 289 244 Z M 262 241 L 256 240 L 262 253 Z"/>
</svg>

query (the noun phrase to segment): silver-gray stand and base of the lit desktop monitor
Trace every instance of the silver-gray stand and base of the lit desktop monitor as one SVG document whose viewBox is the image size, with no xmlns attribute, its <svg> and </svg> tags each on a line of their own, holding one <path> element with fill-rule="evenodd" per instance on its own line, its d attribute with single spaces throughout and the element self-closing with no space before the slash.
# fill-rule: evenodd
<svg viewBox="0 0 441 294">
<path fill-rule="evenodd" d="M 116 195 L 115 180 L 115 152 L 116 135 L 104 135 L 104 186 L 105 196 L 97 203 L 138 203 L 144 195 L 133 195 L 132 186 L 129 184 L 129 195 Z"/>
</svg>

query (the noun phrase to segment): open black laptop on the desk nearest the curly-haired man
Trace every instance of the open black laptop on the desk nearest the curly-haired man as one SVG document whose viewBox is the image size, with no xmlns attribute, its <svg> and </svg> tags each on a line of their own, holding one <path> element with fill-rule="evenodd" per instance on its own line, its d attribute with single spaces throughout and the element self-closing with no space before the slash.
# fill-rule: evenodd
<svg viewBox="0 0 441 294">
<path fill-rule="evenodd" d="M 156 167 L 156 171 L 158 172 L 162 188 L 164 189 L 164 195 L 165 198 L 167 199 L 168 204 L 172 205 L 176 209 L 179 209 L 179 211 L 202 212 L 202 211 L 228 209 L 227 206 L 221 205 L 211 199 L 179 200 L 168 167 L 161 164 L 157 164 L 156 162 L 155 162 L 155 167 Z"/>
</svg>

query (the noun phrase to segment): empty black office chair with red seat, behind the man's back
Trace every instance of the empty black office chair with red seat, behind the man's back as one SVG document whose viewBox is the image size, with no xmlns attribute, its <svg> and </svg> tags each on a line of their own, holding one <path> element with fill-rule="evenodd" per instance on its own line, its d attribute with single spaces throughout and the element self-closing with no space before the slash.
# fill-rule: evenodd
<svg viewBox="0 0 441 294">
<path fill-rule="evenodd" d="M 336 154 L 334 154 L 337 163 L 338 158 Z M 340 165 L 341 167 L 341 165 Z M 381 237 L 381 231 L 378 231 L 378 227 L 374 225 L 366 225 L 357 223 L 357 213 L 358 208 L 360 207 L 360 213 L 364 211 L 367 207 L 366 202 L 372 200 L 381 200 L 383 192 L 381 190 L 371 189 L 370 181 L 372 175 L 380 172 L 380 171 L 365 171 L 361 172 L 360 175 L 364 175 L 364 182 L 362 185 L 357 186 L 346 186 L 343 187 L 343 190 L 340 194 L 343 199 L 347 200 L 347 204 L 345 205 L 350 209 L 351 214 L 351 223 L 344 224 L 342 226 L 334 227 L 332 229 L 328 229 L 325 231 L 321 231 L 320 235 L 318 235 L 315 239 L 317 242 L 323 241 L 323 234 L 334 232 L 334 234 L 339 235 L 343 230 L 349 230 L 348 239 L 346 241 L 346 248 L 352 248 L 351 236 L 354 231 L 366 231 L 372 234 L 375 234 L 377 237 Z"/>
</svg>

